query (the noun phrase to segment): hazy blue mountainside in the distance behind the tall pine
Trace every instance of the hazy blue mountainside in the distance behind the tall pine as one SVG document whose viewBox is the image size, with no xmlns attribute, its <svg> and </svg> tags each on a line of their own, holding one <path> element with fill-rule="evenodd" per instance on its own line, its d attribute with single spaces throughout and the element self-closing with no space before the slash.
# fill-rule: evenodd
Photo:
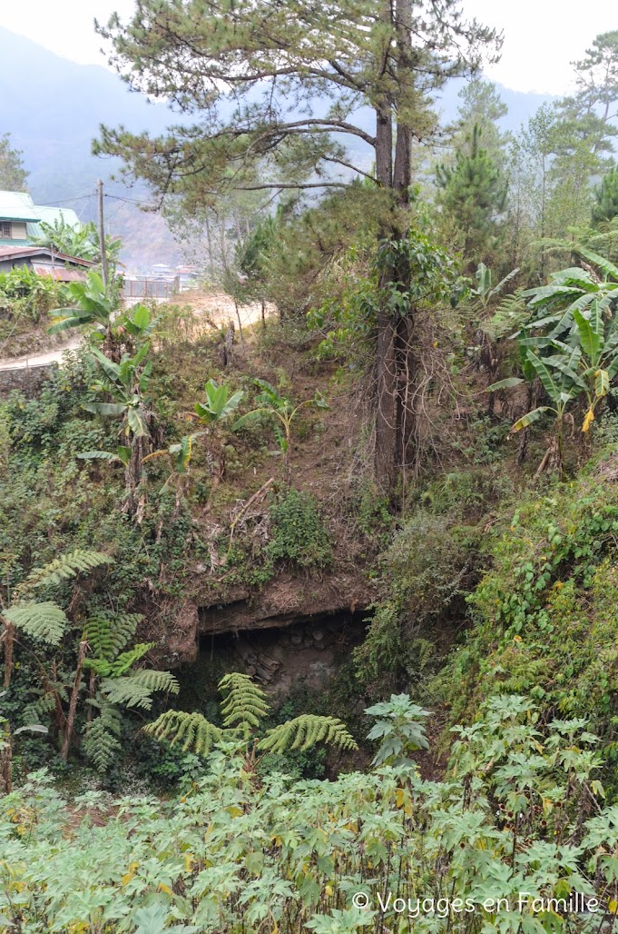
<svg viewBox="0 0 618 934">
<path fill-rule="evenodd" d="M 10 133 L 13 144 L 23 150 L 35 202 L 73 207 L 80 219 L 94 219 L 94 186 L 102 177 L 105 190 L 114 196 L 105 200 L 106 226 L 122 236 L 128 267 L 137 270 L 153 262 L 180 262 L 181 249 L 163 219 L 129 203 L 147 201 L 147 192 L 110 182 L 118 163 L 91 155 L 91 140 L 101 123 L 121 123 L 134 132 L 147 129 L 158 133 L 177 120 L 176 115 L 166 106 L 150 104 L 144 95 L 131 92 L 105 67 L 70 62 L 2 28 L 0 57 L 4 64 L 0 73 L 0 132 Z M 452 82 L 442 95 L 443 120 L 456 114 L 459 87 L 459 82 Z M 500 86 L 499 92 L 509 106 L 502 128 L 513 132 L 550 99 Z M 371 111 L 358 116 L 372 131 Z"/>
</svg>

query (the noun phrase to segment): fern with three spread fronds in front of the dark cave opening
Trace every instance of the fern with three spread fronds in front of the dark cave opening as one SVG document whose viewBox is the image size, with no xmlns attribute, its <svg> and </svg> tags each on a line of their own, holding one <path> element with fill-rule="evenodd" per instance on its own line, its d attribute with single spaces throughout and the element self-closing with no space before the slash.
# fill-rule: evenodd
<svg viewBox="0 0 618 934">
<path fill-rule="evenodd" d="M 287 723 L 267 730 L 259 739 L 258 731 L 263 717 L 269 710 L 266 694 L 246 674 L 232 672 L 218 683 L 224 695 L 221 704 L 223 727 L 217 727 L 197 712 L 168 710 L 153 723 L 145 727 L 147 733 L 157 740 L 174 745 L 182 743 L 184 752 L 207 756 L 216 743 L 230 741 L 249 746 L 255 743 L 264 753 L 305 752 L 318 743 L 337 745 L 341 749 L 358 749 L 354 738 L 341 720 L 333 716 L 304 714 Z"/>
</svg>

